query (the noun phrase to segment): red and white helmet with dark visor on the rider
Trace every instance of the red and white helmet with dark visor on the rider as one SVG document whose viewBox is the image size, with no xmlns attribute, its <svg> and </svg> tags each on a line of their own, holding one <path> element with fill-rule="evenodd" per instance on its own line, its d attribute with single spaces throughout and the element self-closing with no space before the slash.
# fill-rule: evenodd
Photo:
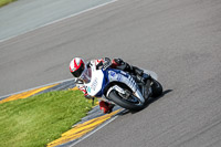
<svg viewBox="0 0 221 147">
<path fill-rule="evenodd" d="M 73 74 L 74 77 L 80 77 L 85 70 L 86 65 L 83 59 L 74 57 L 70 62 L 70 72 Z"/>
</svg>

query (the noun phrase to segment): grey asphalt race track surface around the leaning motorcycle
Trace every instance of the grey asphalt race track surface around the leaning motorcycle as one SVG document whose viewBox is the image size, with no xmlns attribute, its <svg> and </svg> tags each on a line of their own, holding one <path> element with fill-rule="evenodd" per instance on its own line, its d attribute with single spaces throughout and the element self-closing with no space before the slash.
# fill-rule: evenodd
<svg viewBox="0 0 221 147">
<path fill-rule="evenodd" d="M 76 147 L 221 146 L 221 1 L 118 0 L 0 43 L 0 93 L 70 78 L 74 56 L 155 71 L 165 95 Z"/>
</svg>

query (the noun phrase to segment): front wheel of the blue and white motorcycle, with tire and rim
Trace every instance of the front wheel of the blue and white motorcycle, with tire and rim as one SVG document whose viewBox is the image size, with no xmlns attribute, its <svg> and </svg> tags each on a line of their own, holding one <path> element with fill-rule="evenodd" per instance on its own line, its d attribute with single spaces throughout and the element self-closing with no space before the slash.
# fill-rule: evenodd
<svg viewBox="0 0 221 147">
<path fill-rule="evenodd" d="M 136 96 L 130 95 L 129 97 L 124 98 L 124 96 L 115 90 L 109 93 L 109 99 L 130 111 L 140 111 L 145 107 L 145 104 L 143 104 Z"/>
</svg>

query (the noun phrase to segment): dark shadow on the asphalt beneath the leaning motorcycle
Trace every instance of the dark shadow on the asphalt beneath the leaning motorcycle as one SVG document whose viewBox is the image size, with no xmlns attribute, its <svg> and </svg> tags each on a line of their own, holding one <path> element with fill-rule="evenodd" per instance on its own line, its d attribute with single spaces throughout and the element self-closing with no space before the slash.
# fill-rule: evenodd
<svg viewBox="0 0 221 147">
<path fill-rule="evenodd" d="M 158 97 L 151 97 L 151 98 L 147 102 L 146 106 L 145 106 L 143 109 L 147 108 L 151 103 L 154 103 L 154 102 L 160 99 L 161 97 L 164 97 L 166 94 L 168 94 L 168 93 L 170 93 L 170 92 L 172 92 L 172 90 L 166 90 L 166 91 L 162 92 L 162 95 L 160 95 L 160 96 L 158 96 Z M 143 111 L 143 109 L 141 109 L 141 111 Z M 140 111 L 138 111 L 138 112 L 140 112 Z M 124 109 L 124 111 L 120 112 L 118 115 L 126 115 L 126 114 L 128 114 L 128 113 L 130 113 L 130 114 L 136 114 L 136 113 L 138 113 L 138 112 Z"/>
</svg>

